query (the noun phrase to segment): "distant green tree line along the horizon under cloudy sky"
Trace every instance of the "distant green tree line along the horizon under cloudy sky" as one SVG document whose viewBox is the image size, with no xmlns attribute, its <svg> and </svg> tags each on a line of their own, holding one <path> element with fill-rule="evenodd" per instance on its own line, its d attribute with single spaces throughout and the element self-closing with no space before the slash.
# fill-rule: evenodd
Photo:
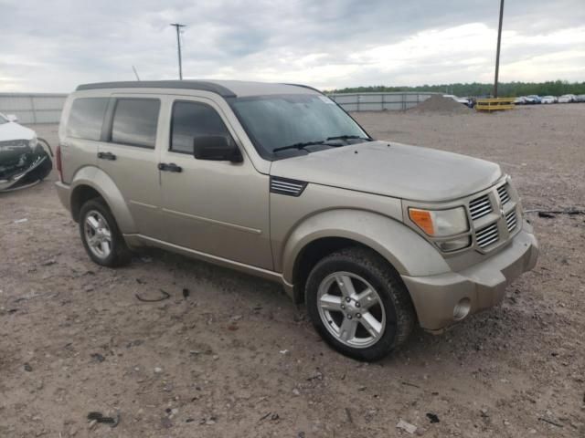
<svg viewBox="0 0 585 438">
<path fill-rule="evenodd" d="M 490 96 L 494 91 L 494 84 L 441 84 L 420 85 L 418 87 L 388 87 L 377 85 L 372 87 L 354 87 L 346 89 L 327 90 L 326 93 L 376 93 L 376 92 L 404 92 L 404 91 L 434 91 L 455 96 Z M 561 96 L 563 94 L 585 94 L 585 82 L 568 82 L 565 80 L 549 80 L 547 82 L 500 82 L 498 95 L 500 97 L 516 97 L 537 94 L 538 96 Z"/>
</svg>

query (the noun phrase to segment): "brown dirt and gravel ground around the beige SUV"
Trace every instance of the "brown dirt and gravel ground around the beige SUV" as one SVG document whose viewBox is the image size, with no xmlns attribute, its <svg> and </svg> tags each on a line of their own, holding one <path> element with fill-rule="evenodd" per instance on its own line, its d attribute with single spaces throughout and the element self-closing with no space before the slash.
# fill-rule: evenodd
<svg viewBox="0 0 585 438">
<path fill-rule="evenodd" d="M 585 208 L 585 105 L 356 118 L 501 163 L 526 209 Z M 583 437 L 585 216 L 527 216 L 541 256 L 501 306 L 367 364 L 278 285 L 158 251 L 101 268 L 50 181 L 0 194 L 0 437 Z"/>
</svg>

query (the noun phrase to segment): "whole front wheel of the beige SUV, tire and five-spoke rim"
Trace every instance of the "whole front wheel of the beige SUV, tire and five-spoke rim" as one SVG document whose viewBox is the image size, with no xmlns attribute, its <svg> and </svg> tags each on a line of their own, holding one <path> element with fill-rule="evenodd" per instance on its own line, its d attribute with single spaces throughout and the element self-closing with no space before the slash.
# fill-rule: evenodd
<svg viewBox="0 0 585 438">
<path fill-rule="evenodd" d="M 397 349 L 416 319 L 398 273 L 367 248 L 347 248 L 317 263 L 306 302 L 324 340 L 357 360 L 379 360 Z"/>
</svg>

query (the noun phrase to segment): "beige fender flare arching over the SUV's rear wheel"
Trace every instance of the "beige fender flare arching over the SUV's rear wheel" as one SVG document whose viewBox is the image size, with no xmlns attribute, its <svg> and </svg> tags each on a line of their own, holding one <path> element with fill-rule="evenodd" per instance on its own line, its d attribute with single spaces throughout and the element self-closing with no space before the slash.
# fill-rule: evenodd
<svg viewBox="0 0 585 438">
<path fill-rule="evenodd" d="M 75 173 L 71 181 L 71 199 L 75 199 L 75 191 L 80 190 L 82 186 L 89 186 L 101 194 L 101 197 L 112 210 L 122 234 L 138 232 L 133 215 L 130 213 L 122 193 L 106 172 L 94 166 L 82 167 Z"/>
</svg>

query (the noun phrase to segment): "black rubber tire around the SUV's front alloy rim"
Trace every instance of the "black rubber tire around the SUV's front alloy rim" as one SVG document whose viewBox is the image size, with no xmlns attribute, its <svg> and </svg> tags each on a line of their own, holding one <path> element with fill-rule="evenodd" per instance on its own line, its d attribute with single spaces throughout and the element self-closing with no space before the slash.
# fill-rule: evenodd
<svg viewBox="0 0 585 438">
<path fill-rule="evenodd" d="M 351 347 L 332 334 L 319 314 L 318 291 L 324 280 L 345 271 L 365 279 L 376 289 L 386 312 L 386 325 L 380 338 L 370 346 Z M 367 248 L 352 247 L 325 256 L 309 274 L 306 287 L 309 318 L 323 339 L 340 353 L 356 360 L 380 360 L 398 349 L 409 338 L 416 321 L 410 295 L 398 272 L 378 253 Z M 340 314 L 343 318 L 343 315 Z"/>
</svg>

